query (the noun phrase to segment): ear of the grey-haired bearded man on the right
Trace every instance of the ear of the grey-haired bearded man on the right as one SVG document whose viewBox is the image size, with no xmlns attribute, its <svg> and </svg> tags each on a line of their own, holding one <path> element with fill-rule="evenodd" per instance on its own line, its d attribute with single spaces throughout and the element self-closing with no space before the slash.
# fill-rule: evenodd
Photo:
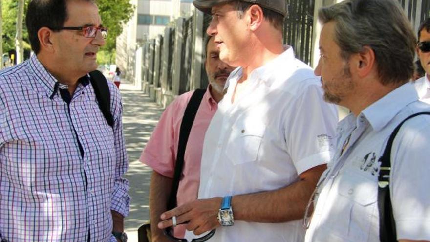
<svg viewBox="0 0 430 242">
<path fill-rule="evenodd" d="M 366 77 L 375 66 L 375 52 L 369 46 L 364 46 L 363 51 L 354 54 L 350 62 L 359 77 Z"/>
</svg>

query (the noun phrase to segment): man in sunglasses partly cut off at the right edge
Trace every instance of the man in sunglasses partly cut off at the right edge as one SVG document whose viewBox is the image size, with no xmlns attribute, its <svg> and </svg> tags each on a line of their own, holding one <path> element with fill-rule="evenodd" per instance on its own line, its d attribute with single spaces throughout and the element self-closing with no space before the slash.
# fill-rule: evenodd
<svg viewBox="0 0 430 242">
<path fill-rule="evenodd" d="M 421 101 L 430 104 L 430 18 L 418 30 L 417 55 L 426 75 L 415 81 Z"/>
</svg>

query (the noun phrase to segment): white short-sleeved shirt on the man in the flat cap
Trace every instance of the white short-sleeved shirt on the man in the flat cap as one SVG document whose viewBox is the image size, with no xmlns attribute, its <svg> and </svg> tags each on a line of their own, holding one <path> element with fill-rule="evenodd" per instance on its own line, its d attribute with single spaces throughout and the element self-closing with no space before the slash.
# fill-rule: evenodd
<svg viewBox="0 0 430 242">
<path fill-rule="evenodd" d="M 337 110 L 323 101 L 320 80 L 312 69 L 294 57 L 292 47 L 287 48 L 248 76 L 247 87 L 233 104 L 242 69 L 230 75 L 227 93 L 206 132 L 199 198 L 279 189 L 330 160 Z M 303 238 L 299 220 L 235 221 L 232 227 L 218 228 L 211 242 L 296 242 Z"/>
</svg>

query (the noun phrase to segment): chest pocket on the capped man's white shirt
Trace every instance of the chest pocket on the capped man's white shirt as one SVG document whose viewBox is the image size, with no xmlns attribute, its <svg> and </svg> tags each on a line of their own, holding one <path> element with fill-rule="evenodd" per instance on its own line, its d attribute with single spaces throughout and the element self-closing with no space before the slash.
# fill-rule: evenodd
<svg viewBox="0 0 430 242">
<path fill-rule="evenodd" d="M 257 160 L 265 125 L 251 120 L 236 122 L 228 139 L 226 155 L 234 165 Z"/>
</svg>

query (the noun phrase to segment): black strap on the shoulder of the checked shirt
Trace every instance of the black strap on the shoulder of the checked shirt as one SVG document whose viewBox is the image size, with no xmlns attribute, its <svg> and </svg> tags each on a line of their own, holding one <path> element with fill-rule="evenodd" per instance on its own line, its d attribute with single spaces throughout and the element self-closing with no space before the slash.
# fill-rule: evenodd
<svg viewBox="0 0 430 242">
<path fill-rule="evenodd" d="M 91 71 L 89 76 L 91 77 L 91 85 L 94 89 L 100 110 L 102 111 L 103 116 L 105 116 L 108 125 L 113 127 L 115 121 L 113 119 L 112 113 L 110 113 L 110 92 L 108 81 L 102 72 L 98 70 Z"/>
</svg>

